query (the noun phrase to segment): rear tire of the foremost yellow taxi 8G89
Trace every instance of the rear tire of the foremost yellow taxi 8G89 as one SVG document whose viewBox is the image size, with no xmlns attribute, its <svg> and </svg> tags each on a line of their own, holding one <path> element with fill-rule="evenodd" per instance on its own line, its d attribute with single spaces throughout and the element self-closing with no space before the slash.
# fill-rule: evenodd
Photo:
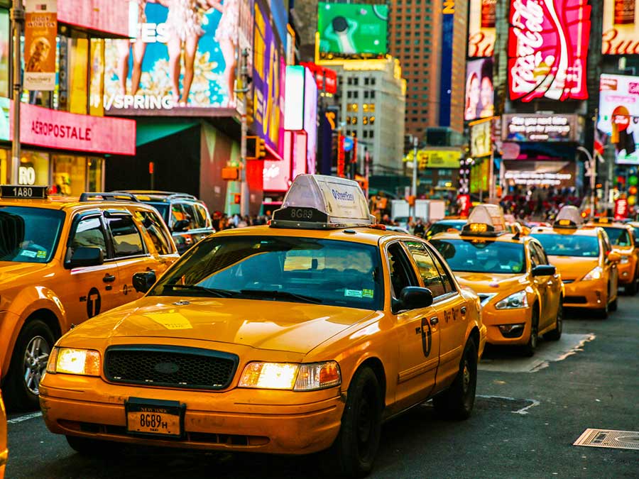
<svg viewBox="0 0 639 479">
<path fill-rule="evenodd" d="M 475 404 L 477 388 L 477 346 L 469 338 L 459 361 L 459 372 L 452 385 L 432 398 L 435 410 L 447 419 L 468 419 Z"/>
</svg>

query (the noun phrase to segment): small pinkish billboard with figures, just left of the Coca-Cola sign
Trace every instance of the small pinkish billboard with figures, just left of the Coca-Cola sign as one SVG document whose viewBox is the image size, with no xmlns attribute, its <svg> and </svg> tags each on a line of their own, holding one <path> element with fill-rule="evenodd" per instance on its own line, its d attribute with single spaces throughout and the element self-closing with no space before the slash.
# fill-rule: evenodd
<svg viewBox="0 0 639 479">
<path fill-rule="evenodd" d="M 466 63 L 464 120 L 493 116 L 493 93 L 493 59 L 469 60 Z"/>
</svg>

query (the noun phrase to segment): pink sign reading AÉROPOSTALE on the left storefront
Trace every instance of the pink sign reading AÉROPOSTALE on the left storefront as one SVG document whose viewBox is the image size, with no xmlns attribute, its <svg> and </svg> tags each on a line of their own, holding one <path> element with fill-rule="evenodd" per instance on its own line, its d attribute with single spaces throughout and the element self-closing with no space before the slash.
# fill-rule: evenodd
<svg viewBox="0 0 639 479">
<path fill-rule="evenodd" d="M 77 115 L 22 104 L 20 141 L 60 150 L 135 155 L 136 122 L 108 116 Z"/>
</svg>

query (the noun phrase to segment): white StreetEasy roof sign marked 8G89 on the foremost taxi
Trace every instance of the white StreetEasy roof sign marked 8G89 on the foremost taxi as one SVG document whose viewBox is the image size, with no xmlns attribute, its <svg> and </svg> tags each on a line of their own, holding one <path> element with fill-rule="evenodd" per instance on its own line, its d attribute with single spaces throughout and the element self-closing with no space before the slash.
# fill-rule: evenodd
<svg viewBox="0 0 639 479">
<path fill-rule="evenodd" d="M 375 217 L 359 183 L 324 175 L 298 175 L 273 212 L 273 228 L 337 229 L 371 226 Z"/>
</svg>

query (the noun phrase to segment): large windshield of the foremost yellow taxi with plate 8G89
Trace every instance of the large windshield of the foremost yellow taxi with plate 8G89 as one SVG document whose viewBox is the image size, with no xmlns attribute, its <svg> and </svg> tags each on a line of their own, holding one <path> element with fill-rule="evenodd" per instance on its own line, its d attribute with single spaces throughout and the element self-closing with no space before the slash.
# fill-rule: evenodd
<svg viewBox="0 0 639 479">
<path fill-rule="evenodd" d="M 271 299 L 382 309 L 376 246 L 283 236 L 212 236 L 150 294 Z"/>
</svg>

